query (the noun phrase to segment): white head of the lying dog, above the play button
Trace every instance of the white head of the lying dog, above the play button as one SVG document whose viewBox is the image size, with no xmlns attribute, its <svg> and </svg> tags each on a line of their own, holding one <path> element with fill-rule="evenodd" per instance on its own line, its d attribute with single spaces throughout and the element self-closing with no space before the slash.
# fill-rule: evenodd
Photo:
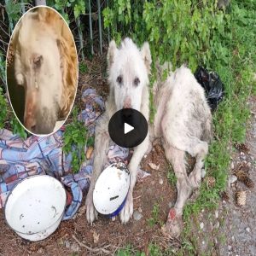
<svg viewBox="0 0 256 256">
<path fill-rule="evenodd" d="M 108 48 L 108 75 L 117 110 L 141 110 L 143 88 L 148 86 L 151 55 L 148 43 L 142 49 L 130 38 L 125 38 L 117 48 L 111 41 Z"/>
</svg>

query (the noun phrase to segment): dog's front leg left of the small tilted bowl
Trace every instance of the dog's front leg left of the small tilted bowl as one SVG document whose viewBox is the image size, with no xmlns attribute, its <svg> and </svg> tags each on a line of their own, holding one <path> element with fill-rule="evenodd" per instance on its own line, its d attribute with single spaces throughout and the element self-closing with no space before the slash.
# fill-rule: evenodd
<svg viewBox="0 0 256 256">
<path fill-rule="evenodd" d="M 102 119 L 100 119 L 98 125 L 96 125 L 93 171 L 90 178 L 90 188 L 85 200 L 86 218 L 90 224 L 97 218 L 97 212 L 93 205 L 92 195 L 96 180 L 101 174 L 103 165 L 106 162 L 108 146 L 108 119 L 106 116 L 102 116 Z"/>
</svg>

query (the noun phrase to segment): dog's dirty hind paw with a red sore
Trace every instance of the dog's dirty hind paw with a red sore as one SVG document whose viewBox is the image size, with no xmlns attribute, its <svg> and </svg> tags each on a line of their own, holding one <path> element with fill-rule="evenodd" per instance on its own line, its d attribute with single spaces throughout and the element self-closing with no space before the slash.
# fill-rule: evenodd
<svg viewBox="0 0 256 256">
<path fill-rule="evenodd" d="M 169 238 L 177 238 L 183 230 L 182 215 L 177 214 L 175 208 L 172 208 L 168 214 L 166 224 L 161 228 L 164 236 Z"/>
</svg>

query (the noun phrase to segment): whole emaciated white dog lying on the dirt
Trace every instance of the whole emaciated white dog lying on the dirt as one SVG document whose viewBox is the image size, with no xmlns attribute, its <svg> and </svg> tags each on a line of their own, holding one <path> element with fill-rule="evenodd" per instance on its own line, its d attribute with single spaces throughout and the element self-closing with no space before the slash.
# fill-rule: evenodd
<svg viewBox="0 0 256 256">
<path fill-rule="evenodd" d="M 141 50 L 126 38 L 120 48 L 112 41 L 108 49 L 108 75 L 110 94 L 106 112 L 96 125 L 94 171 L 90 189 L 86 198 L 86 216 L 91 223 L 97 213 L 92 202 L 92 193 L 96 179 L 102 172 L 103 163 L 109 144 L 108 121 L 121 108 L 135 108 L 148 120 L 149 95 L 148 74 L 150 73 L 151 55 L 148 43 Z M 162 70 L 158 67 L 158 81 L 154 88 L 154 105 L 157 112 L 151 137 L 161 138 L 166 158 L 172 163 L 177 177 L 177 201 L 170 210 L 166 230 L 171 236 L 178 236 L 181 231 L 182 213 L 185 201 L 192 190 L 201 183 L 201 168 L 207 155 L 208 142 L 212 136 L 212 115 L 204 95 L 204 90 L 197 83 L 189 68 L 180 67 L 170 73 L 165 82 Z M 137 167 L 150 148 L 149 136 L 134 150 L 128 169 L 131 172 L 131 188 L 125 207 L 120 212 L 122 223 L 126 223 L 133 212 L 132 191 L 136 183 Z M 195 157 L 193 171 L 187 175 L 185 153 Z"/>
</svg>

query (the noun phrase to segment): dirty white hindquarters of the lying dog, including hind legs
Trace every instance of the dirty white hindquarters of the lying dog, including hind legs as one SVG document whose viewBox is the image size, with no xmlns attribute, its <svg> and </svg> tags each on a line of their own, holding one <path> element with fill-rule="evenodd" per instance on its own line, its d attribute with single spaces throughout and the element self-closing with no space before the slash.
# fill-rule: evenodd
<svg viewBox="0 0 256 256">
<path fill-rule="evenodd" d="M 161 77 L 161 73 L 160 73 Z M 212 137 L 212 114 L 201 85 L 187 67 L 170 73 L 165 82 L 155 84 L 154 137 L 161 137 L 166 158 L 177 177 L 177 201 L 166 222 L 169 236 L 179 236 L 186 200 L 201 183 L 203 160 Z M 189 176 L 185 153 L 195 157 Z"/>
</svg>

